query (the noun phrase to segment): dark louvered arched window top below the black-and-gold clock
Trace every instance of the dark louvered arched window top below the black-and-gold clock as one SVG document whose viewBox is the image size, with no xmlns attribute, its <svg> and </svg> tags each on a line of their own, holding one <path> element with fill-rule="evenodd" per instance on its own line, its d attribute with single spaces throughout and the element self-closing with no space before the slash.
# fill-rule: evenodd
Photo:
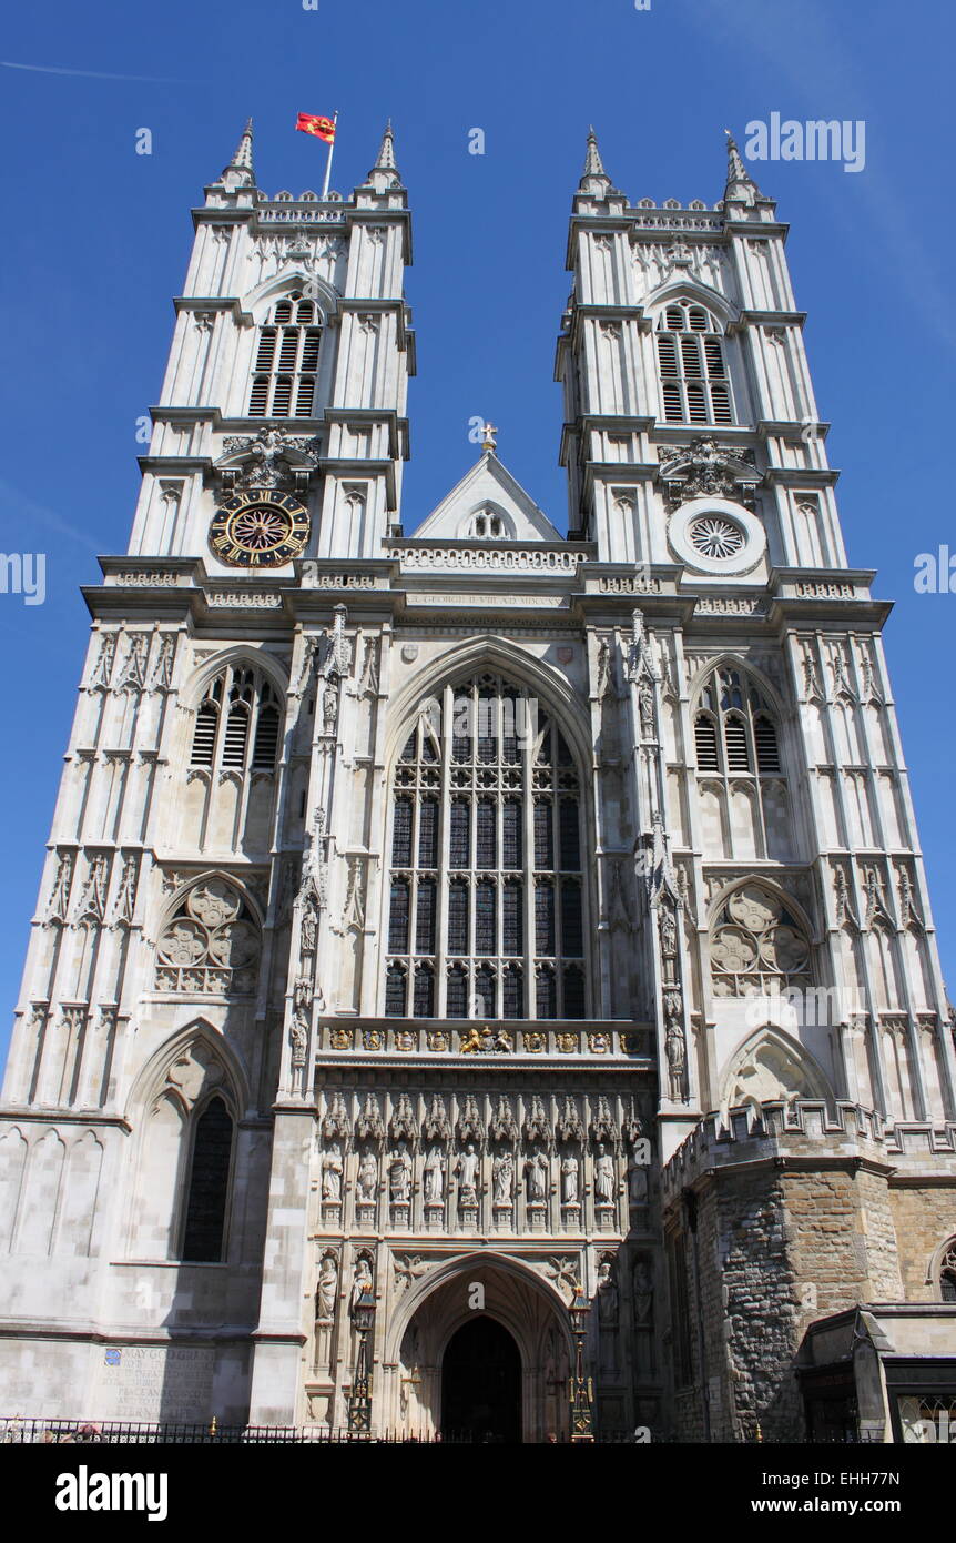
<svg viewBox="0 0 956 1543">
<path fill-rule="evenodd" d="M 271 682 L 250 665 L 228 665 L 213 676 L 196 710 L 190 765 L 274 772 L 279 727 Z"/>
</svg>

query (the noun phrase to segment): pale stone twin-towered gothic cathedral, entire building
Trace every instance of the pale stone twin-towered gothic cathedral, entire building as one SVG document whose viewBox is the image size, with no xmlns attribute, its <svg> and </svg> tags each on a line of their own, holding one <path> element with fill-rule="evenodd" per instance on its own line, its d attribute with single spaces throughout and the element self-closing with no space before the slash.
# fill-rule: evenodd
<svg viewBox="0 0 956 1543">
<path fill-rule="evenodd" d="M 247 128 L 194 225 L 0 1106 L 0 1415 L 956 1412 L 953 1025 L 774 202 L 732 140 L 631 202 L 591 134 L 566 535 L 492 424 L 402 509 L 390 130 L 296 198 Z"/>
</svg>

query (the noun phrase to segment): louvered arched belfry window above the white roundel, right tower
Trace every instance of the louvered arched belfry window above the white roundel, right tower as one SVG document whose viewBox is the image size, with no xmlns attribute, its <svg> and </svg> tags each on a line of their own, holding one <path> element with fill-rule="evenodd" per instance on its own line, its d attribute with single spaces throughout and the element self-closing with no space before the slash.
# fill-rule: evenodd
<svg viewBox="0 0 956 1543">
<path fill-rule="evenodd" d="M 666 423 L 732 423 L 726 344 L 703 306 L 672 301 L 657 322 L 657 364 Z"/>
</svg>

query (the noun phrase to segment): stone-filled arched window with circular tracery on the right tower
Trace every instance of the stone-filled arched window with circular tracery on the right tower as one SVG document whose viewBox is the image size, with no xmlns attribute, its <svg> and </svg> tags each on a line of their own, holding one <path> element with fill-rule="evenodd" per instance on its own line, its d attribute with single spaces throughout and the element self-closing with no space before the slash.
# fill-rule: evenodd
<svg viewBox="0 0 956 1543">
<path fill-rule="evenodd" d="M 782 997 L 813 986 L 810 940 L 796 913 L 762 884 L 745 884 L 711 926 L 715 997 Z"/>
</svg>

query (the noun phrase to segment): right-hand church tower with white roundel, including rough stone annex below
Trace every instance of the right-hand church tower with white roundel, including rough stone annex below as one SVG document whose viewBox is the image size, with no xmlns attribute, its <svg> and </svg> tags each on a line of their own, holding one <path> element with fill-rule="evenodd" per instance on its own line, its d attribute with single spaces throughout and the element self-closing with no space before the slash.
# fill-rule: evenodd
<svg viewBox="0 0 956 1543">
<path fill-rule="evenodd" d="M 732 139 L 714 208 L 631 207 L 592 134 L 561 454 L 604 597 L 591 622 L 614 626 L 611 596 L 637 606 L 624 785 L 658 1048 L 669 1429 L 900 1440 L 893 1373 L 882 1403 L 847 1372 L 853 1322 L 834 1329 L 839 1367 L 814 1345 L 828 1313 L 873 1302 L 897 1304 L 857 1322 L 874 1361 L 953 1345 L 953 1310 L 913 1304 L 956 1299 L 954 1040 L 890 608 L 847 563 L 785 238 Z M 595 716 L 595 745 L 604 731 Z M 598 759 L 609 788 L 615 759 Z"/>
</svg>

